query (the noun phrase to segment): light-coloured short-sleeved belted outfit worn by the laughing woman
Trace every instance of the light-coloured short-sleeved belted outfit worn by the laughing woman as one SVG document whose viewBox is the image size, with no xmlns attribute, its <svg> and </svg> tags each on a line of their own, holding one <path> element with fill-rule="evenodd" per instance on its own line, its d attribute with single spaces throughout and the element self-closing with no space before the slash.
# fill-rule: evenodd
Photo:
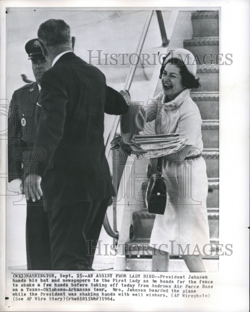
<svg viewBox="0 0 250 312">
<path fill-rule="evenodd" d="M 185 89 L 173 101 L 164 103 L 161 92 L 145 106 L 131 106 L 121 123 L 122 136 L 127 141 L 142 130 L 144 134 L 178 133 L 179 138 L 188 139 L 184 149 L 171 155 L 172 161 L 163 157 L 167 204 L 164 215 L 155 217 L 150 239 L 151 246 L 174 255 L 204 254 L 209 248 L 208 179 L 201 157 L 202 119 L 189 93 L 190 89 Z M 185 159 L 188 156 L 198 158 Z"/>
</svg>

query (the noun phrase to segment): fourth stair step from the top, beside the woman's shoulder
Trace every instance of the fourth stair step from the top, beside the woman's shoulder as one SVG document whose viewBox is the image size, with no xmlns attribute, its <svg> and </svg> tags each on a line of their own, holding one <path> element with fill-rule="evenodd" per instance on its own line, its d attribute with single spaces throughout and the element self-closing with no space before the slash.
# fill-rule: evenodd
<svg viewBox="0 0 250 312">
<path fill-rule="evenodd" d="M 199 107 L 202 119 L 212 120 L 219 118 L 218 92 L 191 92 L 190 96 Z"/>
</svg>

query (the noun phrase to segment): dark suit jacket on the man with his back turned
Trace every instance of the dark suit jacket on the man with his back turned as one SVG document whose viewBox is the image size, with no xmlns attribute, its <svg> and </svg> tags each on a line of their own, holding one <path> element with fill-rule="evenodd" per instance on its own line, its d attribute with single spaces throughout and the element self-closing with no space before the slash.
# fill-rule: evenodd
<svg viewBox="0 0 250 312">
<path fill-rule="evenodd" d="M 105 157 L 104 112 L 128 106 L 105 76 L 68 52 L 42 76 L 41 114 L 34 146 L 46 150 L 37 162 L 46 210 L 114 195 Z"/>
</svg>

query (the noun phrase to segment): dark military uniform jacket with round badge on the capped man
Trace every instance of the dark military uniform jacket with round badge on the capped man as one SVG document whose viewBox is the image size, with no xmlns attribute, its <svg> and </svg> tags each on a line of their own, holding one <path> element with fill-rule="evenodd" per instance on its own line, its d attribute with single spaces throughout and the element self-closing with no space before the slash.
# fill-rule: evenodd
<svg viewBox="0 0 250 312">
<path fill-rule="evenodd" d="M 12 95 L 8 114 L 9 182 L 22 177 L 22 162 L 31 158 L 35 141 L 35 110 L 38 96 L 36 82 L 24 85 Z"/>
</svg>

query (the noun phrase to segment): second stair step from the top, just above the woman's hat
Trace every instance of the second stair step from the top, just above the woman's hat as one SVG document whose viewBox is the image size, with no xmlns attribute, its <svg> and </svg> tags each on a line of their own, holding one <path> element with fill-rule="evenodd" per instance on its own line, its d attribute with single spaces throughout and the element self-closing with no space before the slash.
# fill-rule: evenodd
<svg viewBox="0 0 250 312">
<path fill-rule="evenodd" d="M 212 65 L 219 63 L 218 37 L 197 37 L 193 39 L 185 39 L 183 41 L 183 45 L 184 49 L 187 49 L 194 54 L 198 65 Z"/>
</svg>

